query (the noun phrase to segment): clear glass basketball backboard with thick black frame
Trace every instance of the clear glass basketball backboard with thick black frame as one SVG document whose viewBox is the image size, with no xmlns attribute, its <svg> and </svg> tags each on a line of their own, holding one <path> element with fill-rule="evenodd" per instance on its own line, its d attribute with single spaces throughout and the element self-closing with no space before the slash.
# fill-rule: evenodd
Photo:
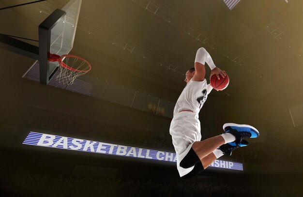
<svg viewBox="0 0 303 197">
<path fill-rule="evenodd" d="M 72 50 L 82 0 L 70 0 L 55 10 L 39 25 L 39 60 L 31 66 L 39 67 L 40 83 L 48 84 L 59 68 L 58 62 L 49 62 L 49 54 L 64 55 Z M 28 71 L 23 75 L 30 71 Z"/>
</svg>

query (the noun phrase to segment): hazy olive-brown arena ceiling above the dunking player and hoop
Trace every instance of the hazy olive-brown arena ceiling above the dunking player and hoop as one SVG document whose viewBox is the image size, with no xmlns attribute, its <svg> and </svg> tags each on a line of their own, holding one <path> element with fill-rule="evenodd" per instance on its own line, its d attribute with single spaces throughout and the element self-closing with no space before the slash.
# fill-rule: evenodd
<svg viewBox="0 0 303 197">
<path fill-rule="evenodd" d="M 28 1 L 1 0 L 3 5 L 20 2 Z M 22 28 L 22 37 L 37 39 L 35 27 L 67 2 L 3 10 L 22 16 L 32 27 L 17 21 L 14 27 L 14 19 L 6 18 L 10 25 L 2 25 L 2 33 L 21 34 L 15 30 Z M 231 11 L 219 0 L 86 0 L 72 54 L 91 62 L 92 76 L 131 88 L 145 81 L 157 88 L 147 91 L 170 94 L 174 101 L 197 48 L 203 46 L 232 80 L 227 91 L 214 95 L 291 99 L 303 88 L 301 8 L 300 1 L 284 0 L 242 1 Z"/>
</svg>

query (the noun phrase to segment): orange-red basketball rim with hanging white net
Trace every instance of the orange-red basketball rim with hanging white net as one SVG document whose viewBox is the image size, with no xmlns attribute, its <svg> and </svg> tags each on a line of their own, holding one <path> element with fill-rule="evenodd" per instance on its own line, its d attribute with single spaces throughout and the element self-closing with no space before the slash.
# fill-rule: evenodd
<svg viewBox="0 0 303 197">
<path fill-rule="evenodd" d="M 76 77 L 86 74 L 91 70 L 91 64 L 76 55 L 50 54 L 48 61 L 58 61 L 60 73 L 56 76 L 59 83 L 72 85 Z"/>
</svg>

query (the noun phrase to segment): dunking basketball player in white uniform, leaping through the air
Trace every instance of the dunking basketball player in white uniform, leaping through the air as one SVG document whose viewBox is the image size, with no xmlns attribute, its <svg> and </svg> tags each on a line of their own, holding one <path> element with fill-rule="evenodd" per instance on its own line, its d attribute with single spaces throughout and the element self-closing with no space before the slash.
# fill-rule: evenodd
<svg viewBox="0 0 303 197">
<path fill-rule="evenodd" d="M 226 123 L 225 133 L 201 140 L 199 111 L 212 91 L 205 79 L 205 62 L 211 68 L 211 76 L 218 79 L 225 77 L 226 72 L 216 67 L 205 48 L 199 48 L 196 54 L 195 68 L 186 72 L 186 87 L 182 91 L 174 108 L 174 117 L 169 133 L 177 156 L 177 169 L 182 179 L 196 176 L 223 154 L 231 152 L 248 142 L 242 138 L 258 137 L 256 128 L 245 124 Z"/>
</svg>

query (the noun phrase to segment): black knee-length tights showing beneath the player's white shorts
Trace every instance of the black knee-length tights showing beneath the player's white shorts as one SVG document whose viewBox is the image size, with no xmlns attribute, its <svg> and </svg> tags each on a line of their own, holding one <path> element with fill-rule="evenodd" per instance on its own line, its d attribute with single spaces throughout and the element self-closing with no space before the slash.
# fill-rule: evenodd
<svg viewBox="0 0 303 197">
<path fill-rule="evenodd" d="M 198 162 L 197 162 L 197 160 L 198 160 Z M 180 164 L 181 163 L 183 163 L 185 165 L 189 165 L 189 166 L 195 166 L 192 171 L 190 171 L 188 174 L 185 174 L 184 176 L 182 176 L 181 177 L 182 179 L 190 179 L 190 178 L 198 175 L 200 172 L 202 172 L 204 170 L 204 167 L 203 167 L 201 161 L 199 160 L 199 157 L 197 156 L 196 152 L 193 150 L 193 148 L 190 149 L 190 151 L 182 159 Z M 191 165 L 191 163 L 194 163 L 194 165 Z"/>
</svg>

